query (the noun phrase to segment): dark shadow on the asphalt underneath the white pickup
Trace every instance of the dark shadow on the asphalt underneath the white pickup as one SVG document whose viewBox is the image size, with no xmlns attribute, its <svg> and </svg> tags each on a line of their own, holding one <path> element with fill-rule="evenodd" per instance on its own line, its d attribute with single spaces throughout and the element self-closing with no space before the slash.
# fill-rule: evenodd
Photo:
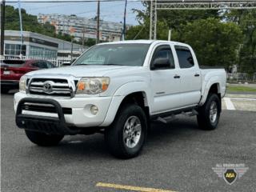
<svg viewBox="0 0 256 192">
<path fill-rule="evenodd" d="M 200 132 L 203 133 L 204 131 L 198 130 L 194 118 L 184 118 L 168 124 L 152 123 L 142 155 L 144 152 L 150 154 L 163 145 L 175 147 L 175 142 L 194 140 Z M 114 159 L 106 149 L 103 134 L 66 136 L 58 146 L 40 147 L 40 149 L 46 153 L 50 150 L 50 154 L 54 153 L 69 159 L 82 158 L 86 160 L 86 158 L 92 157 Z"/>
</svg>

